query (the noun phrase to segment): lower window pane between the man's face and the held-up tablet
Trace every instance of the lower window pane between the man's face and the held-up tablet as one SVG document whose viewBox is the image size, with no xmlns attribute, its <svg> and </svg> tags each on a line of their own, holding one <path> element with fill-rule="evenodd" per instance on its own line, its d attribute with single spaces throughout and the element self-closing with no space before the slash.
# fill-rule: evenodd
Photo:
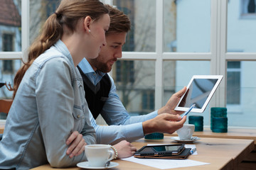
<svg viewBox="0 0 256 170">
<path fill-rule="evenodd" d="M 130 115 L 154 111 L 155 62 L 117 61 L 112 69 L 117 94 Z"/>
</svg>

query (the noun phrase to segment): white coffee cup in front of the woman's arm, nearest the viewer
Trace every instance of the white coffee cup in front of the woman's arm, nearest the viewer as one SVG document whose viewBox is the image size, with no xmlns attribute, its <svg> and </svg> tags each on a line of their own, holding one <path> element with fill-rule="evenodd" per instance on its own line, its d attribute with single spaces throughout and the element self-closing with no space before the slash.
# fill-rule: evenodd
<svg viewBox="0 0 256 170">
<path fill-rule="evenodd" d="M 114 151 L 110 145 L 86 145 L 85 155 L 88 165 L 92 167 L 105 167 L 105 164 L 114 159 Z"/>
</svg>

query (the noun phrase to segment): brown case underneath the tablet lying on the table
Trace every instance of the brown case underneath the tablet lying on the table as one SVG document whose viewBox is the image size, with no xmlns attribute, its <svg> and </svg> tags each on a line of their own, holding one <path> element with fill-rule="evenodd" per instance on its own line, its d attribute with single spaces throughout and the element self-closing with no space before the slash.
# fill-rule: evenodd
<svg viewBox="0 0 256 170">
<path fill-rule="evenodd" d="M 154 159 L 186 159 L 188 155 L 190 155 L 191 148 L 185 148 L 181 152 L 181 154 L 176 154 L 176 155 L 171 155 L 171 156 L 154 156 L 154 155 L 145 155 L 145 156 L 140 156 L 140 155 L 134 155 L 136 158 L 154 158 Z"/>
</svg>

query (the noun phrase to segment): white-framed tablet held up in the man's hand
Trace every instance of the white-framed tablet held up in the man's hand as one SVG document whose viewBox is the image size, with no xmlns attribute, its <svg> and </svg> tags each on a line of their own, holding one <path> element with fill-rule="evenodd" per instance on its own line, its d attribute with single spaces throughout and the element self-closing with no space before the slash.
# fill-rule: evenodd
<svg viewBox="0 0 256 170">
<path fill-rule="evenodd" d="M 195 104 L 191 112 L 203 113 L 222 79 L 222 75 L 193 76 L 188 83 L 186 93 L 181 96 L 174 110 L 187 111 Z"/>
</svg>

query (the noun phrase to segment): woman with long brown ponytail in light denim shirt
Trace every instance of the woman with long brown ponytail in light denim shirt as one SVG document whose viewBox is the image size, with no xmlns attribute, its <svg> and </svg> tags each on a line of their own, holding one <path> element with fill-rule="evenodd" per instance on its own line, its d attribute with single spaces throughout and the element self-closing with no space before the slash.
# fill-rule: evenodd
<svg viewBox="0 0 256 170">
<path fill-rule="evenodd" d="M 0 142 L 0 169 L 31 169 L 50 163 L 75 166 L 84 152 L 68 157 L 65 141 L 78 131 L 76 148 L 95 143 L 82 77 L 76 66 L 106 45 L 108 9 L 98 0 L 63 0 L 28 50 L 14 79 L 14 102 Z M 75 141 L 77 142 L 77 141 Z"/>
</svg>

